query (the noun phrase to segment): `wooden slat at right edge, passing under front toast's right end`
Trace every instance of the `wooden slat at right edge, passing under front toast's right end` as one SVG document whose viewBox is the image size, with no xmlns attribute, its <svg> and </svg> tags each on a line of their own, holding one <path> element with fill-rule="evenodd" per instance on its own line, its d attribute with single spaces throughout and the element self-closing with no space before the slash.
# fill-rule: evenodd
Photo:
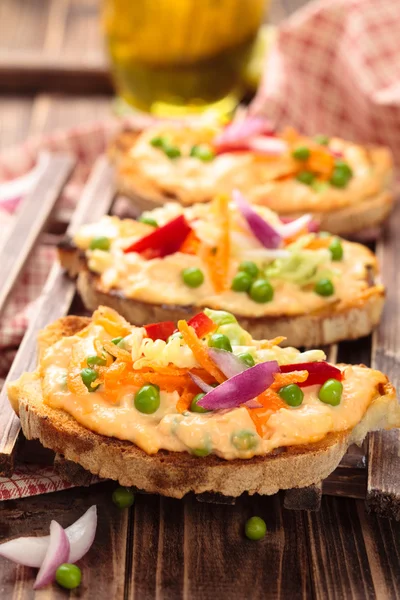
<svg viewBox="0 0 400 600">
<path fill-rule="evenodd" d="M 387 285 L 382 322 L 373 335 L 371 366 L 400 384 L 400 205 L 388 221 L 377 245 L 377 255 Z M 400 519 L 400 430 L 372 433 L 368 451 L 367 505 L 385 516 Z"/>
</svg>

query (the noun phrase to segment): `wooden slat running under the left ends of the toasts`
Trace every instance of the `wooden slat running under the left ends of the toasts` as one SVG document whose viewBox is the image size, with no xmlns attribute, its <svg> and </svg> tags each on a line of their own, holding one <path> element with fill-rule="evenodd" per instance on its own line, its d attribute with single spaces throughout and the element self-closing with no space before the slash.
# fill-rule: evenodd
<svg viewBox="0 0 400 600">
<path fill-rule="evenodd" d="M 98 220 L 110 209 L 113 198 L 112 169 L 107 159 L 101 157 L 85 186 L 68 227 L 68 234 L 73 235 L 82 223 Z M 0 392 L 0 473 L 2 475 L 8 476 L 13 470 L 16 442 L 20 431 L 19 419 L 7 398 L 7 383 L 17 379 L 24 371 L 35 369 L 38 332 L 52 321 L 67 314 L 74 294 L 74 282 L 65 277 L 61 266 L 55 263 L 8 373 L 6 383 Z"/>
</svg>

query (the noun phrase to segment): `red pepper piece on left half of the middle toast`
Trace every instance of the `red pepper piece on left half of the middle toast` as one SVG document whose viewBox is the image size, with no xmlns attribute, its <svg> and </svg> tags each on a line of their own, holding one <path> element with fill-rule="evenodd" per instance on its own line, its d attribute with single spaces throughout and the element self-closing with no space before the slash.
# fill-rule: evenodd
<svg viewBox="0 0 400 600">
<path fill-rule="evenodd" d="M 168 256 L 178 252 L 190 231 L 184 215 L 179 215 L 125 248 L 124 252 L 138 252 L 150 258 Z"/>
</svg>

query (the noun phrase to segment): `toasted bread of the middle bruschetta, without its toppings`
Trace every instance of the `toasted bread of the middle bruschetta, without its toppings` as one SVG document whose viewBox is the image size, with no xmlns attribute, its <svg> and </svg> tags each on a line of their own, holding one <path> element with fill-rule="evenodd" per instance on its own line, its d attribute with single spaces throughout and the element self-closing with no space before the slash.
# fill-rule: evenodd
<svg viewBox="0 0 400 600">
<path fill-rule="evenodd" d="M 186 319 L 194 316 L 198 306 L 151 304 L 127 298 L 121 290 L 102 290 L 100 278 L 88 270 L 84 253 L 66 240 L 59 247 L 61 264 L 70 276 L 78 275 L 78 291 L 88 310 L 107 305 L 123 315 L 130 323 L 142 325 L 156 321 Z M 338 310 L 330 305 L 315 314 L 286 317 L 246 317 L 236 313 L 240 324 L 253 338 L 285 336 L 284 344 L 306 348 L 333 344 L 341 340 L 368 335 L 378 325 L 384 305 L 383 286 L 371 284 L 371 294 L 354 305 Z"/>
</svg>

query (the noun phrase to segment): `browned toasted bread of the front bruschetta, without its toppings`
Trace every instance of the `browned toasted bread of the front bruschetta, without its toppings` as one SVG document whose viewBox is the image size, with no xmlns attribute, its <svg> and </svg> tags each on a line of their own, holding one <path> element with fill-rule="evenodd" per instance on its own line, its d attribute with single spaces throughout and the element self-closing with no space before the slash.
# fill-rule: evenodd
<svg viewBox="0 0 400 600">
<path fill-rule="evenodd" d="M 40 350 L 87 324 L 88 319 L 83 317 L 59 319 L 41 333 Z M 363 419 L 354 429 L 329 434 L 317 443 L 280 448 L 248 460 L 226 461 L 214 455 L 199 459 L 168 451 L 150 456 L 130 442 L 93 433 L 64 411 L 45 405 L 38 372 L 22 375 L 9 385 L 8 394 L 28 439 L 40 440 L 43 446 L 94 475 L 174 498 L 189 492 L 234 497 L 244 492 L 270 495 L 280 489 L 318 483 L 337 467 L 350 444 L 361 443 L 368 431 L 400 422 L 394 388 L 386 381 L 377 387 Z"/>
</svg>

